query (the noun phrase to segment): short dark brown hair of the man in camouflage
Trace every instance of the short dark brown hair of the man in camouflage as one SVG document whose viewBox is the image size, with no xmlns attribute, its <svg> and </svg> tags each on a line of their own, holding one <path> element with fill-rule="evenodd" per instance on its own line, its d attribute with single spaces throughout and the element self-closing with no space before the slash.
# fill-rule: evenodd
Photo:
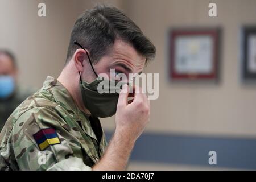
<svg viewBox="0 0 256 182">
<path fill-rule="evenodd" d="M 67 60 L 71 60 L 77 46 L 75 40 L 90 52 L 92 63 L 97 63 L 108 53 L 115 39 L 130 43 L 146 61 L 154 59 L 155 46 L 143 35 L 141 29 L 116 7 L 97 5 L 76 20 L 71 32 Z"/>
</svg>

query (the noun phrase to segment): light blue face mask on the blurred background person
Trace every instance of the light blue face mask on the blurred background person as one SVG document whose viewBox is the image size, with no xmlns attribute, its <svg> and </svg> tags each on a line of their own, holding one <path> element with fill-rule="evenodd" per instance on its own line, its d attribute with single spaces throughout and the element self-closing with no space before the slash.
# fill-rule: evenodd
<svg viewBox="0 0 256 182">
<path fill-rule="evenodd" d="M 0 99 L 5 99 L 11 96 L 14 92 L 15 83 L 11 76 L 0 76 Z"/>
</svg>

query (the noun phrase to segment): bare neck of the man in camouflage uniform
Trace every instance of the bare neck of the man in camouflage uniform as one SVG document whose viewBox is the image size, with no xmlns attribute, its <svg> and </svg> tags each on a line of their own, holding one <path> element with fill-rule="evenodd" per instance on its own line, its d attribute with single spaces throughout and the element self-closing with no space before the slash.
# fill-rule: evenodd
<svg viewBox="0 0 256 182">
<path fill-rule="evenodd" d="M 71 94 L 73 100 L 75 101 L 77 107 L 84 112 L 85 114 L 90 115 L 90 111 L 86 109 L 84 106 L 84 102 L 82 102 L 82 94 L 80 91 L 80 77 L 79 72 L 69 69 L 69 65 L 67 65 L 63 71 L 60 73 L 60 76 L 57 80 L 68 90 Z"/>
</svg>

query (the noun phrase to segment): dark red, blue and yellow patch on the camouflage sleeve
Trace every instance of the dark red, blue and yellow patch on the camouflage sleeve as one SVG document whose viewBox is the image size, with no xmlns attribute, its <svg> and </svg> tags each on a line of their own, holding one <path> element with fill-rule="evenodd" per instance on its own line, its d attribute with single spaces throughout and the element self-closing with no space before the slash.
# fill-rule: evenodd
<svg viewBox="0 0 256 182">
<path fill-rule="evenodd" d="M 33 135 L 33 137 L 36 140 L 40 150 L 45 150 L 51 145 L 61 143 L 55 129 L 52 127 L 38 131 Z"/>
</svg>

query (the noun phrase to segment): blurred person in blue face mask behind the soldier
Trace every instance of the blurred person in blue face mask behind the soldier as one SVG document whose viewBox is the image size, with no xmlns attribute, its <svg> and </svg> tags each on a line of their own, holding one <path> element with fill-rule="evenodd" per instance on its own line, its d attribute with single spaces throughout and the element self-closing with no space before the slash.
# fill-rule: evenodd
<svg viewBox="0 0 256 182">
<path fill-rule="evenodd" d="M 0 131 L 11 113 L 30 93 L 17 85 L 18 67 L 13 53 L 0 49 Z"/>
</svg>

